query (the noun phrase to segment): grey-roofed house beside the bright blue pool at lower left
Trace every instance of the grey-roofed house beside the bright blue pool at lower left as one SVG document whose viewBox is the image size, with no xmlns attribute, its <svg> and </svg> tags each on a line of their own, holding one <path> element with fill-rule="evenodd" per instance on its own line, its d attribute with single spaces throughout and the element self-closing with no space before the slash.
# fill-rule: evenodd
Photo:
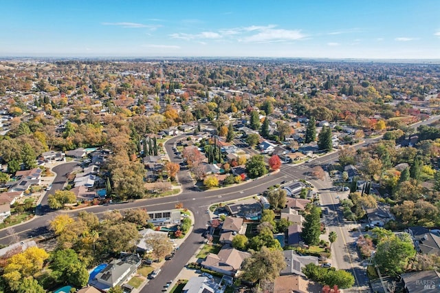
<svg viewBox="0 0 440 293">
<path fill-rule="evenodd" d="M 121 285 L 136 273 L 141 261 L 142 259 L 134 254 L 130 254 L 130 257 L 115 259 L 96 275 L 96 281 L 108 287 Z"/>
</svg>

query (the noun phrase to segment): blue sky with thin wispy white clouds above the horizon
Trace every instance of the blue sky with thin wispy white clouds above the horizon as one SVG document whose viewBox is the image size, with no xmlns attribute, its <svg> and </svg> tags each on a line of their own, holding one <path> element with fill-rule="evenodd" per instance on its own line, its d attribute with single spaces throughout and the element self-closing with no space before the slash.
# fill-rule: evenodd
<svg viewBox="0 0 440 293">
<path fill-rule="evenodd" d="M 439 0 L 0 0 L 0 56 L 440 58 Z"/>
</svg>

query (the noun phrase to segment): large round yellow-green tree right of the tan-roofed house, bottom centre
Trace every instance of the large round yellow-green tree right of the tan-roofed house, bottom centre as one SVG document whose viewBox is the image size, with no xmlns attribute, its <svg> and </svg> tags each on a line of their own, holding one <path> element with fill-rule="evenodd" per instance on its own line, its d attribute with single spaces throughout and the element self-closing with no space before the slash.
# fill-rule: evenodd
<svg viewBox="0 0 440 293">
<path fill-rule="evenodd" d="M 243 261 L 243 278 L 249 281 L 274 281 L 286 268 L 284 254 L 281 250 L 270 250 L 263 247 L 252 251 L 252 256 Z"/>
</svg>

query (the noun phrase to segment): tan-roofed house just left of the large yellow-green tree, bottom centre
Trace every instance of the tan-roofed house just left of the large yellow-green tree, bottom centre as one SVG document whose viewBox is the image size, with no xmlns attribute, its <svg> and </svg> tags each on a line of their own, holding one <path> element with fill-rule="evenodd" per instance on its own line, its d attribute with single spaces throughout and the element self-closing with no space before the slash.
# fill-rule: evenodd
<svg viewBox="0 0 440 293">
<path fill-rule="evenodd" d="M 201 262 L 201 265 L 214 272 L 234 277 L 239 274 L 241 263 L 250 256 L 249 252 L 236 250 L 230 246 L 223 246 L 219 254 L 209 253 L 206 259 Z"/>
</svg>

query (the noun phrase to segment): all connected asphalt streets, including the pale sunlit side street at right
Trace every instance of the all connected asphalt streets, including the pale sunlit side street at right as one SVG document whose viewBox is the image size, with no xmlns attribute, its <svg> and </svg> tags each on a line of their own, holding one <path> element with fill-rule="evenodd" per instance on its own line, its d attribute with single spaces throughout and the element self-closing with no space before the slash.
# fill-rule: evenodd
<svg viewBox="0 0 440 293">
<path fill-rule="evenodd" d="M 440 116 L 434 116 L 432 119 L 439 119 Z M 426 120 L 424 122 L 418 122 L 413 124 L 417 127 L 420 124 L 428 124 L 432 122 L 431 120 Z M 174 155 L 172 148 L 175 142 L 181 138 L 175 137 L 168 140 L 165 144 L 166 152 L 169 158 L 173 162 L 180 162 L 181 160 Z M 365 144 L 369 144 L 375 140 L 379 140 L 380 137 L 369 139 L 358 144 L 355 148 L 360 148 Z M 175 208 L 175 204 L 182 203 L 184 208 L 191 210 L 195 217 L 194 229 L 192 233 L 188 235 L 186 241 L 181 244 L 179 250 L 175 254 L 175 257 L 171 261 L 166 261 L 162 267 L 162 273 L 159 274 L 155 279 L 150 280 L 148 285 L 146 285 L 141 292 L 161 292 L 163 285 L 170 279 L 175 279 L 182 268 L 188 263 L 190 257 L 197 251 L 200 246 L 200 242 L 203 240 L 201 233 L 206 230 L 206 222 L 209 220 L 209 215 L 204 213 L 204 211 L 211 204 L 218 202 L 228 202 L 233 199 L 239 199 L 241 197 L 247 197 L 250 195 L 256 195 L 257 193 L 263 193 L 268 187 L 275 184 L 281 184 L 283 181 L 296 180 L 296 179 L 306 179 L 318 189 L 320 193 L 320 201 L 322 205 L 329 206 L 330 210 L 333 210 L 332 215 L 335 215 L 336 221 L 328 221 L 327 227 L 330 230 L 334 230 L 338 233 L 338 239 L 333 246 L 333 259 L 335 259 L 334 265 L 336 268 L 351 270 L 355 275 L 355 286 L 363 287 L 366 284 L 366 278 L 364 272 L 360 270 L 359 262 L 355 263 L 355 254 L 348 253 L 350 243 L 353 242 L 354 235 L 349 232 L 349 226 L 343 224 L 342 216 L 338 212 L 335 195 L 336 191 L 331 191 L 331 182 L 318 181 L 309 178 L 309 173 L 313 166 L 316 165 L 331 165 L 338 160 L 338 153 L 330 153 L 324 155 L 320 158 L 313 160 L 312 162 L 301 164 L 298 166 L 283 164 L 281 166 L 281 171 L 271 175 L 266 175 L 258 180 L 253 180 L 247 183 L 239 184 L 236 186 L 231 186 L 228 188 L 220 188 L 214 191 L 199 191 L 195 188 L 192 178 L 188 171 L 179 171 L 177 177 L 181 183 L 183 192 L 179 195 L 169 196 L 169 197 L 159 197 L 153 199 L 140 199 L 135 202 L 129 202 L 126 204 L 113 204 L 111 206 L 92 206 L 87 208 L 87 212 L 102 214 L 108 210 L 126 210 L 130 208 L 146 208 L 147 210 L 167 210 Z M 56 178 L 53 183 L 52 190 L 46 193 L 41 199 L 41 206 L 37 208 L 37 215 L 31 221 L 14 226 L 16 234 L 21 238 L 25 239 L 28 237 L 35 237 L 47 232 L 47 224 L 59 213 L 67 213 L 65 211 L 51 211 L 47 206 L 47 196 L 54 193 L 57 189 L 62 189 L 67 178 L 66 174 L 72 171 L 76 162 L 61 164 L 54 167 L 53 171 L 56 172 Z M 78 211 L 68 212 L 70 215 L 75 216 Z M 0 243 L 8 244 L 9 237 L 7 234 L 7 229 L 0 230 Z M 340 251 L 342 250 L 342 251 Z M 360 290 L 358 290 L 360 291 Z"/>
</svg>

